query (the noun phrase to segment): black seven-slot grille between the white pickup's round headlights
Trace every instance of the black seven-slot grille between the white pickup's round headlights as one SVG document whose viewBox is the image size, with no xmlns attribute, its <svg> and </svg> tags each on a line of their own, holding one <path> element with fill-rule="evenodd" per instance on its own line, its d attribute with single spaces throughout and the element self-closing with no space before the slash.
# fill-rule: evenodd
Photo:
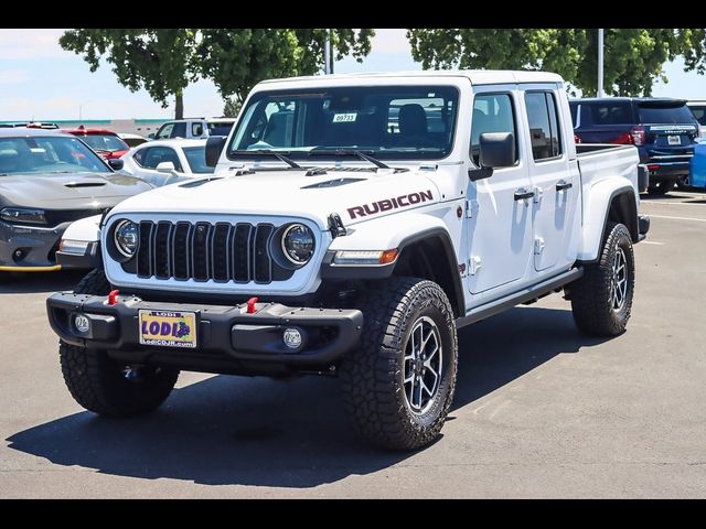
<svg viewBox="0 0 706 529">
<path fill-rule="evenodd" d="M 270 255 L 274 233 L 271 224 L 142 220 L 137 274 L 223 283 L 287 279 Z"/>
</svg>

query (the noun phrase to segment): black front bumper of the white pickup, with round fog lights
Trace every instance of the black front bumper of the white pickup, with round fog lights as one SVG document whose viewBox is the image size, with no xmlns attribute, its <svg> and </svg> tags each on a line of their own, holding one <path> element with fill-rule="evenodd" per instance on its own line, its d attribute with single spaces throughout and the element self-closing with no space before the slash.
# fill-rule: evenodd
<svg viewBox="0 0 706 529">
<path fill-rule="evenodd" d="M 46 300 L 49 320 L 62 341 L 105 349 L 125 361 L 170 364 L 206 373 L 267 371 L 267 366 L 301 370 L 329 368 L 356 347 L 363 313 L 350 309 L 291 307 L 258 303 L 257 312 L 246 305 L 199 305 L 142 301 L 120 296 L 108 305 L 105 296 L 56 293 Z M 140 344 L 139 311 L 193 312 L 196 314 L 196 348 Z M 74 316 L 84 314 L 90 330 L 78 332 Z M 297 328 L 301 345 L 289 348 L 284 331 Z"/>
</svg>

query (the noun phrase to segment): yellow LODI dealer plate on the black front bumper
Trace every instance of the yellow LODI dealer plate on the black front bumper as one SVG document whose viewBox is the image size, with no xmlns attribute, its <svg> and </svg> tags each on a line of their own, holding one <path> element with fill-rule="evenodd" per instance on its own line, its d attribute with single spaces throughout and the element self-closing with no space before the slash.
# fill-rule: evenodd
<svg viewBox="0 0 706 529">
<path fill-rule="evenodd" d="M 159 347 L 196 347 L 196 313 L 140 311 L 140 344 Z"/>
</svg>

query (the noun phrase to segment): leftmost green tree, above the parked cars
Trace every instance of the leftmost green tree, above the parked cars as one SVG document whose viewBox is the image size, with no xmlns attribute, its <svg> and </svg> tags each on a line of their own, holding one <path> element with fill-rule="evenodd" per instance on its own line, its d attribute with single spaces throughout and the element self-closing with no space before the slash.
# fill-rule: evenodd
<svg viewBox="0 0 706 529">
<path fill-rule="evenodd" d="M 118 82 L 131 91 L 145 88 L 163 108 L 175 98 L 175 117 L 183 118 L 183 91 L 197 78 L 196 30 L 121 29 L 68 30 L 58 40 L 64 50 L 83 54 L 90 72 L 100 58 L 113 65 Z"/>
</svg>

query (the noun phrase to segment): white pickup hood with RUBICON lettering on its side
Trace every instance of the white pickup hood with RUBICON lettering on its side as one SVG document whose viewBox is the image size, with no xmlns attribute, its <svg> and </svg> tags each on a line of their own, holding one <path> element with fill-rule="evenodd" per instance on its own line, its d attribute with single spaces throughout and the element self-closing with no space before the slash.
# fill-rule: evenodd
<svg viewBox="0 0 706 529">
<path fill-rule="evenodd" d="M 304 217 L 322 229 L 338 213 L 344 226 L 439 201 L 434 172 L 329 170 L 218 174 L 160 187 L 121 203 L 111 213 L 194 213 Z"/>
</svg>

